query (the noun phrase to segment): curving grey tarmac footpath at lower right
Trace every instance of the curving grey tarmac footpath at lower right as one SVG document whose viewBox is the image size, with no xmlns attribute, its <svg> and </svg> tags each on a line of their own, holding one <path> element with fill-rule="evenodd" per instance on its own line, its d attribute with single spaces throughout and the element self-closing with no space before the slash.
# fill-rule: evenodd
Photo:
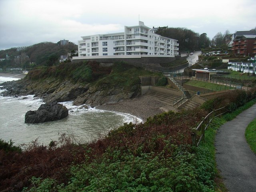
<svg viewBox="0 0 256 192">
<path fill-rule="evenodd" d="M 226 122 L 216 134 L 216 163 L 230 192 L 256 192 L 256 155 L 244 132 L 256 118 L 256 104 Z"/>
</svg>

